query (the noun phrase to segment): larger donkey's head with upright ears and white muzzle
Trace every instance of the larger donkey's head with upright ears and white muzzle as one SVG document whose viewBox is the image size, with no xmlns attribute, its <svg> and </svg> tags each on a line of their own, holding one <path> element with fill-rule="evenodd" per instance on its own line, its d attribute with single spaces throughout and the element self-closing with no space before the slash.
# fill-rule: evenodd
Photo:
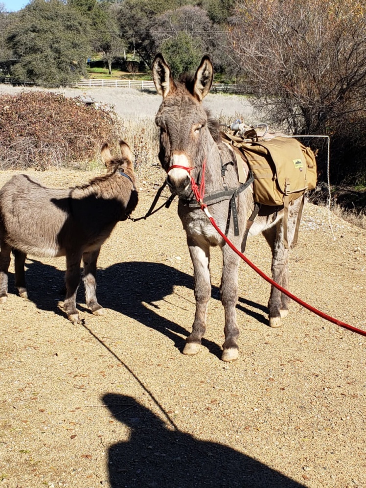
<svg viewBox="0 0 366 488">
<path fill-rule="evenodd" d="M 170 189 L 182 194 L 189 186 L 191 171 L 198 173 L 207 144 L 212 143 L 211 121 L 202 100 L 212 85 L 213 66 L 204 56 L 193 79 L 175 82 L 163 56 L 157 54 L 153 78 L 163 98 L 155 119 L 160 127 L 160 163 L 168 173 Z"/>
</svg>

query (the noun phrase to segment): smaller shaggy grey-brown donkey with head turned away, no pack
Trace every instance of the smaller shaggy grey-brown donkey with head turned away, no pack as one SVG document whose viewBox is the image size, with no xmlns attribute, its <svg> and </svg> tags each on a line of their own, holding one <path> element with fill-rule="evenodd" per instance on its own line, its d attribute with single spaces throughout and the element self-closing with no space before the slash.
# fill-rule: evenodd
<svg viewBox="0 0 366 488">
<path fill-rule="evenodd" d="M 120 220 L 136 208 L 138 195 L 132 153 L 119 142 L 121 157 L 113 158 L 107 143 L 102 161 L 107 174 L 83 186 L 47 188 L 28 175 L 13 176 L 0 190 L 0 303 L 7 301 L 10 252 L 15 257 L 15 286 L 27 298 L 24 262 L 34 256 L 66 256 L 68 319 L 80 324 L 76 292 L 83 259 L 85 299 L 94 315 L 104 310 L 96 299 L 96 262 L 103 242 Z"/>
</svg>

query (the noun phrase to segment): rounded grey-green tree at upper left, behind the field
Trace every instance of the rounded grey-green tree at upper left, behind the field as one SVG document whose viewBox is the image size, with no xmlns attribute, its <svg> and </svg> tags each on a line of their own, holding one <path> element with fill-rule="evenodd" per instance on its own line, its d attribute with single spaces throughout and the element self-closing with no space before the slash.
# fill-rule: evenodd
<svg viewBox="0 0 366 488">
<path fill-rule="evenodd" d="M 32 0 L 17 14 L 7 44 L 19 62 L 15 78 L 43 86 L 86 75 L 89 39 L 82 16 L 62 0 Z"/>
</svg>

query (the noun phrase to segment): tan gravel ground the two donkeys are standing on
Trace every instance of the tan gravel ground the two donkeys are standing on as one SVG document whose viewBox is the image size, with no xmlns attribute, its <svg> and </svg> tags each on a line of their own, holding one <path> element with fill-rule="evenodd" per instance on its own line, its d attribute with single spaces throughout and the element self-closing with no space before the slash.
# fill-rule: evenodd
<svg viewBox="0 0 366 488">
<path fill-rule="evenodd" d="M 12 174 L 1 172 L 0 185 Z M 92 176 L 37 174 L 49 186 Z M 152 184 L 142 188 L 136 215 L 153 196 Z M 306 207 L 291 290 L 366 329 L 366 232 L 331 222 L 335 241 L 326 209 Z M 247 256 L 270 272 L 261 237 Z M 99 259 L 107 313 L 92 316 L 80 292 L 84 326 L 62 311 L 63 258 L 27 260 L 29 300 L 13 293 L 11 275 L 0 318 L 1 487 L 366 487 L 366 339 L 296 303 L 270 329 L 269 285 L 242 264 L 241 353 L 221 362 L 220 265 L 215 251 L 195 357 L 181 353 L 194 296 L 175 203 L 118 224 Z"/>
</svg>

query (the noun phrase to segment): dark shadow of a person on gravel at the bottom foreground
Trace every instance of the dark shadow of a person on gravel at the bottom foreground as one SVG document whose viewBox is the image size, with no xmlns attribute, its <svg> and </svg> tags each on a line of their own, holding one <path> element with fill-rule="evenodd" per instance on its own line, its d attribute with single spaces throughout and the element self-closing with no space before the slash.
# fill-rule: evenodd
<svg viewBox="0 0 366 488">
<path fill-rule="evenodd" d="M 163 412 L 174 428 L 170 430 L 130 396 L 109 393 L 102 401 L 130 429 L 128 441 L 109 449 L 112 488 L 304 487 L 228 446 L 199 441 L 179 431 Z"/>
</svg>

